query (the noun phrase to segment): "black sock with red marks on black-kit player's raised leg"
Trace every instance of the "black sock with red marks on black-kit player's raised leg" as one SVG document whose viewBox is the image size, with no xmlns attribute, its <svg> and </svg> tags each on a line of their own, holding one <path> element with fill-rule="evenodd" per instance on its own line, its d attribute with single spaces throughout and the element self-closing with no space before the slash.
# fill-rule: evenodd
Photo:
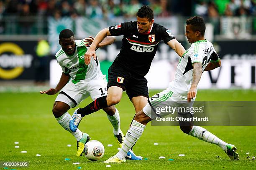
<svg viewBox="0 0 256 170">
<path fill-rule="evenodd" d="M 85 115 L 90 115 L 93 112 L 97 112 L 98 110 L 108 107 L 107 104 L 107 96 L 102 96 L 91 102 L 89 105 L 84 108 L 80 108 L 77 110 L 78 114 L 81 114 L 82 117 Z"/>
</svg>

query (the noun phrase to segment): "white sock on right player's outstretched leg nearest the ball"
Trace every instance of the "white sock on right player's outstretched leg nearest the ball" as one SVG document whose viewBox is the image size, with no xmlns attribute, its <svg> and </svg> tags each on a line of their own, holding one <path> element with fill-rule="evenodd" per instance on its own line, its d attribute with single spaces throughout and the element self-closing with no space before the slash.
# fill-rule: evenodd
<svg viewBox="0 0 256 170">
<path fill-rule="evenodd" d="M 131 149 L 134 143 L 136 143 L 136 141 L 141 137 L 145 127 L 145 125 L 137 122 L 136 120 L 133 120 L 130 129 L 125 135 L 123 146 L 116 154 L 117 158 L 119 158 L 120 160 L 123 160 L 125 158 L 125 155 Z"/>
</svg>

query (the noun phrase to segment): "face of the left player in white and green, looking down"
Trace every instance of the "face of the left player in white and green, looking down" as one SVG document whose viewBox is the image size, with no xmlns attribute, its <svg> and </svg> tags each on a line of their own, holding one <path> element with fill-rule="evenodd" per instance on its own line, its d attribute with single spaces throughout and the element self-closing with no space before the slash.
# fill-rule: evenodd
<svg viewBox="0 0 256 170">
<path fill-rule="evenodd" d="M 74 36 L 71 36 L 69 38 L 61 38 L 61 40 L 59 40 L 59 45 L 61 45 L 62 50 L 67 55 L 74 54 L 76 47 Z"/>
</svg>

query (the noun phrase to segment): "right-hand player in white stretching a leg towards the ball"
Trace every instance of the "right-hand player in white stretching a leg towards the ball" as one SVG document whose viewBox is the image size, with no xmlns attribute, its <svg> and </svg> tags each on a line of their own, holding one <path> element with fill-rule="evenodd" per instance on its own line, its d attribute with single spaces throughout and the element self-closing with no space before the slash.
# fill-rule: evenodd
<svg viewBox="0 0 256 170">
<path fill-rule="evenodd" d="M 146 124 L 156 119 L 156 113 L 153 111 L 154 107 L 165 107 L 167 102 L 164 101 L 168 101 L 171 107 L 192 107 L 202 72 L 220 67 L 220 59 L 212 43 L 205 40 L 205 23 L 203 18 L 195 16 L 189 18 L 186 23 L 185 36 L 192 45 L 179 60 L 174 80 L 169 83 L 169 87 L 166 90 L 151 97 L 148 100 L 148 104 L 140 112 L 136 113 L 130 129 L 125 135 L 121 150 L 106 160 L 106 163 L 125 162 L 126 153 L 141 137 Z M 165 105 L 163 105 L 164 103 Z M 161 112 L 158 116 L 164 117 L 168 114 L 170 113 Z M 187 124 L 182 122 L 180 128 L 188 135 L 218 145 L 231 160 L 239 159 L 235 145 L 225 143 L 205 128 L 194 126 L 190 122 L 187 122 Z"/>
</svg>

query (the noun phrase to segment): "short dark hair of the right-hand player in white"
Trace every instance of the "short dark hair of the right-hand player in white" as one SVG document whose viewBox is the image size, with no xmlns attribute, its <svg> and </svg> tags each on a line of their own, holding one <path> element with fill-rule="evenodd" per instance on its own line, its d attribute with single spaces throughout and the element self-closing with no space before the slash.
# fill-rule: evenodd
<svg viewBox="0 0 256 170">
<path fill-rule="evenodd" d="M 186 21 L 187 25 L 191 25 L 194 32 L 199 31 L 201 35 L 205 35 L 205 21 L 202 17 L 191 17 Z"/>
</svg>

